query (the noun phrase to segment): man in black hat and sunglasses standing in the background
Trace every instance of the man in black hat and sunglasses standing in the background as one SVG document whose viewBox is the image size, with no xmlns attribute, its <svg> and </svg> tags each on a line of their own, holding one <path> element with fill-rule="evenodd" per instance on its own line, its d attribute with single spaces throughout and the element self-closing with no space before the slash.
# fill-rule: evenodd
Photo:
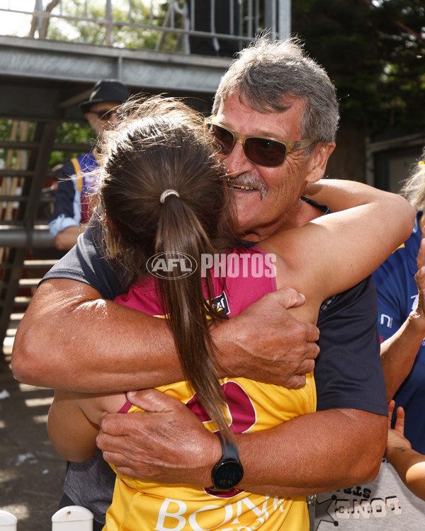
<svg viewBox="0 0 425 531">
<path fill-rule="evenodd" d="M 80 103 L 86 120 L 98 139 L 116 122 L 115 109 L 128 100 L 128 89 L 115 79 L 102 79 L 88 101 Z M 91 216 L 91 195 L 96 185 L 93 170 L 98 167 L 96 148 L 62 166 L 49 230 L 57 249 L 71 249 L 86 229 Z"/>
</svg>

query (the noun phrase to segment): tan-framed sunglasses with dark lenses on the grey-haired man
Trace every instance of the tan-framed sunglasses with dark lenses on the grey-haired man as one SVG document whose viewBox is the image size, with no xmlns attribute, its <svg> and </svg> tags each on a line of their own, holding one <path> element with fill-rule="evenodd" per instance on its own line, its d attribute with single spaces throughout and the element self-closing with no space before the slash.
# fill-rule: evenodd
<svg viewBox="0 0 425 531">
<path fill-rule="evenodd" d="M 239 142 L 244 148 L 246 158 L 253 164 L 257 164 L 257 166 L 266 166 L 268 168 L 282 166 L 288 153 L 311 146 L 314 143 L 314 140 L 281 142 L 276 138 L 242 135 L 229 127 L 214 122 L 211 118 L 205 120 L 205 122 L 208 124 L 209 132 L 217 140 L 220 154 L 229 155 L 232 153 L 234 144 Z"/>
</svg>

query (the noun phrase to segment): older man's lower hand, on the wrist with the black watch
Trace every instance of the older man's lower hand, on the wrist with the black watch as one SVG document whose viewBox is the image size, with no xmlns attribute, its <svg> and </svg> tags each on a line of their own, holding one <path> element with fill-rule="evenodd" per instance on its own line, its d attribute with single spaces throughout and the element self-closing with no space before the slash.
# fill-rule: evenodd
<svg viewBox="0 0 425 531">
<path fill-rule="evenodd" d="M 210 462 L 221 457 L 217 436 L 180 400 L 157 389 L 128 393 L 128 399 L 145 412 L 103 414 L 96 440 L 103 458 L 126 476 L 210 486 Z"/>
</svg>

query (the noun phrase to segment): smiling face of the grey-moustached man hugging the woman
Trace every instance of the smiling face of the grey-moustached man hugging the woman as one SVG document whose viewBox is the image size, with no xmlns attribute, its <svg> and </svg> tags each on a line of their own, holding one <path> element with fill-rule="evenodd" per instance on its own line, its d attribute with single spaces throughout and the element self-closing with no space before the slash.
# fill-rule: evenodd
<svg viewBox="0 0 425 531">
<path fill-rule="evenodd" d="M 283 142 L 301 140 L 305 104 L 299 98 L 285 99 L 292 104 L 285 112 L 259 113 L 233 95 L 221 103 L 214 120 L 244 135 L 273 137 Z M 285 217 L 298 204 L 310 181 L 310 157 L 305 149 L 290 152 L 276 168 L 253 164 L 239 142 L 229 155 L 220 155 L 220 159 L 234 185 L 239 234 L 259 241 L 283 227 Z"/>
</svg>

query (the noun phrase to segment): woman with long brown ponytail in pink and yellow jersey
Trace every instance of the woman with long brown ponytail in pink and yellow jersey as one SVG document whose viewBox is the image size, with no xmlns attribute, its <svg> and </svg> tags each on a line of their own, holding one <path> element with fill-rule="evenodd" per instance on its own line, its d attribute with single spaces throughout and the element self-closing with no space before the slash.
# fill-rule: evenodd
<svg viewBox="0 0 425 531">
<path fill-rule="evenodd" d="M 225 367 L 217 367 L 210 328 L 287 285 L 305 296 L 305 304 L 290 311 L 315 323 L 324 299 L 360 282 L 407 238 L 414 211 L 397 195 L 327 181 L 309 193 L 335 213 L 238 249 L 232 190 L 203 118 L 179 101 L 157 97 L 127 103 L 121 113 L 125 120 L 102 149 L 97 210 L 105 258 L 125 272 L 125 295 L 116 301 L 166 319 L 186 381 L 158 390 L 183 401 L 219 435 L 237 472 L 233 468 L 220 480 L 215 467 L 210 488 L 200 489 L 135 480 L 115 470 L 104 529 L 307 530 L 304 497 L 237 489 L 243 462 L 234 433 L 266 430 L 314 411 L 313 374 L 302 389 L 291 390 L 219 378 Z M 57 390 L 48 421 L 57 451 L 72 461 L 91 457 L 104 411 L 140 411 L 124 391 L 95 396 Z"/>
</svg>

